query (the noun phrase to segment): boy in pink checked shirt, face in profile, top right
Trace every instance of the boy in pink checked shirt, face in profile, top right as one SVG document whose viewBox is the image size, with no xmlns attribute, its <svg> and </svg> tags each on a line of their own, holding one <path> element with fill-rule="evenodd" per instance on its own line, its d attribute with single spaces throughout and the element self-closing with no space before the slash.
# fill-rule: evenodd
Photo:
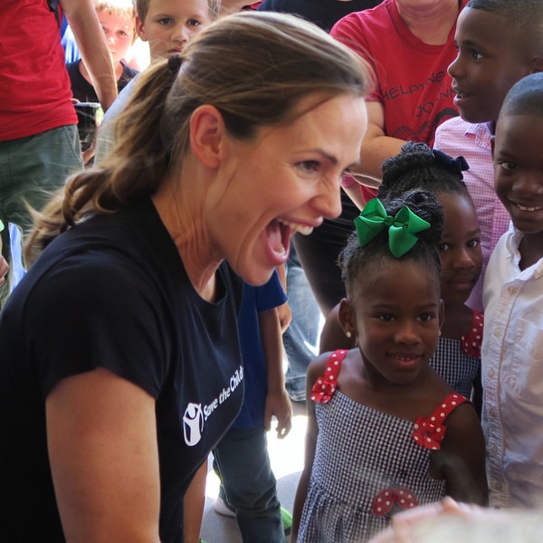
<svg viewBox="0 0 543 543">
<path fill-rule="evenodd" d="M 484 271 L 510 221 L 494 193 L 491 136 L 511 86 L 543 70 L 541 25 L 541 0 L 470 0 L 456 24 L 458 56 L 448 71 L 461 117 L 437 128 L 433 147 L 462 155 L 470 165 L 463 176 L 481 225 L 483 258 L 480 280 L 467 301 L 472 310 L 482 311 Z"/>
</svg>

